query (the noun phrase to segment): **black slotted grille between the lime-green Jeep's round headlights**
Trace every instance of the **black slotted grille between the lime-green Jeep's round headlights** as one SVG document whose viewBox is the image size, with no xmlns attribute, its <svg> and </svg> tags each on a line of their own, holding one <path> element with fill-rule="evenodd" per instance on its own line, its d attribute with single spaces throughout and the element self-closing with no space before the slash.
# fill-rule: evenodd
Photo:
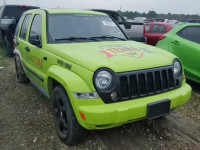
<svg viewBox="0 0 200 150">
<path fill-rule="evenodd" d="M 122 73 L 119 80 L 121 100 L 154 95 L 176 87 L 171 67 Z"/>
</svg>

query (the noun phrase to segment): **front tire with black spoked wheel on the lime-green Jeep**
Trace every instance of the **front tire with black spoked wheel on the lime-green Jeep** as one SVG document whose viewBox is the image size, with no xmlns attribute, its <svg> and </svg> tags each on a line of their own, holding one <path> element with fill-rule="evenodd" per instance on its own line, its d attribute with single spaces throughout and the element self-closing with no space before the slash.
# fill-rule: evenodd
<svg viewBox="0 0 200 150">
<path fill-rule="evenodd" d="M 64 144 L 77 144 L 86 136 L 86 129 L 79 125 L 65 89 L 60 85 L 55 87 L 51 100 L 58 137 Z"/>
</svg>

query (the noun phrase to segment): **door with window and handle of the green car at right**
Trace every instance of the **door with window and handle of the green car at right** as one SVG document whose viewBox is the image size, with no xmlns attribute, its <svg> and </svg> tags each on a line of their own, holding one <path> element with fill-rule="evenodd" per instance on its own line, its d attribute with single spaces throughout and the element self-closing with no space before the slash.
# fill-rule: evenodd
<svg viewBox="0 0 200 150">
<path fill-rule="evenodd" d="M 200 80 L 200 27 L 188 26 L 180 30 L 173 36 L 170 49 L 181 59 L 186 76 Z"/>
</svg>

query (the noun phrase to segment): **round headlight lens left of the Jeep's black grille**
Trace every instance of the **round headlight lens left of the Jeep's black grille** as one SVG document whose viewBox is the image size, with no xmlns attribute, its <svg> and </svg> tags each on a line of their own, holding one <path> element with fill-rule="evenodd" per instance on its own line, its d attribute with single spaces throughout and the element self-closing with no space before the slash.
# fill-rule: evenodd
<svg viewBox="0 0 200 150">
<path fill-rule="evenodd" d="M 112 83 L 113 77 L 108 71 L 100 71 L 95 78 L 95 85 L 97 88 L 104 90 Z"/>
</svg>

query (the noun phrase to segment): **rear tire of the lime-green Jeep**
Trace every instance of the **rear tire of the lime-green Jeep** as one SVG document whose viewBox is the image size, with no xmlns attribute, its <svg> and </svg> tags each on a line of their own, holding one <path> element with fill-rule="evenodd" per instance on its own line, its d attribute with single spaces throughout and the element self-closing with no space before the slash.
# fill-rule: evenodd
<svg viewBox="0 0 200 150">
<path fill-rule="evenodd" d="M 29 78 L 26 76 L 24 69 L 22 67 L 20 58 L 18 55 L 15 55 L 15 69 L 16 69 L 16 75 L 17 80 L 19 83 L 29 83 Z"/>
</svg>

